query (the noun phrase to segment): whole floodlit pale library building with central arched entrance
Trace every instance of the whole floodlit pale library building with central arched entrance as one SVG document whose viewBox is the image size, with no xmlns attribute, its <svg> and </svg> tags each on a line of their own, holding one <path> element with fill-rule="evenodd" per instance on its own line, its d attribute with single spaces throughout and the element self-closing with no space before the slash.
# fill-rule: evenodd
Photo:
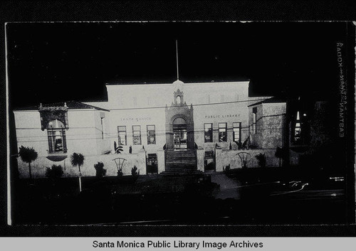
<svg viewBox="0 0 356 251">
<path fill-rule="evenodd" d="M 129 174 L 133 166 L 140 174 L 222 171 L 227 165 L 241 167 L 241 151 L 251 161 L 266 153 L 274 166 L 274 151 L 283 146 L 286 102 L 249 97 L 248 85 L 180 80 L 108 84 L 105 102 L 14 110 L 17 144 L 38 152 L 32 164 L 35 177 L 44 176 L 53 164 L 61 164 L 66 176 L 78 175 L 69 161 L 74 152 L 85 156 L 84 176 L 95 175 L 98 161 L 107 175 L 116 175 L 119 167 Z M 255 149 L 248 149 L 250 145 Z M 122 149 L 119 154 L 117 148 Z M 28 176 L 28 165 L 20 158 L 18 164 L 21 176 Z"/>
</svg>

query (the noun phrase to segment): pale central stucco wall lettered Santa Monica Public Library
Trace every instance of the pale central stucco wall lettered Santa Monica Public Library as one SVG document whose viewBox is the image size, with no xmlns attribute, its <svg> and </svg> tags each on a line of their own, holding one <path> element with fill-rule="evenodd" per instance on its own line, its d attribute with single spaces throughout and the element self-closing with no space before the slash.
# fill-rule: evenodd
<svg viewBox="0 0 356 251">
<path fill-rule="evenodd" d="M 127 146 L 132 146 L 132 152 L 137 152 L 145 146 L 149 153 L 157 152 L 166 144 L 165 137 L 165 110 L 174 101 L 174 91 L 177 88 L 184 93 L 184 102 L 188 107 L 194 106 L 194 141 L 198 146 L 214 148 L 218 139 L 218 123 L 227 122 L 228 133 L 226 143 L 233 141 L 232 123 L 241 122 L 241 139 L 248 137 L 248 82 L 205 82 L 205 83 L 179 83 L 157 85 L 107 85 L 108 107 L 110 109 L 110 145 L 117 141 L 117 126 L 126 126 Z M 221 105 L 201 105 L 219 102 L 228 102 Z M 145 107 L 145 109 L 137 109 Z M 160 107 L 147 109 L 147 107 Z M 134 108 L 134 109 L 132 109 Z M 213 123 L 214 142 L 204 143 L 204 123 Z M 132 144 L 132 125 L 141 125 L 142 145 Z M 156 126 L 156 145 L 147 146 L 147 124 Z M 244 129 L 245 127 L 245 129 Z"/>
</svg>

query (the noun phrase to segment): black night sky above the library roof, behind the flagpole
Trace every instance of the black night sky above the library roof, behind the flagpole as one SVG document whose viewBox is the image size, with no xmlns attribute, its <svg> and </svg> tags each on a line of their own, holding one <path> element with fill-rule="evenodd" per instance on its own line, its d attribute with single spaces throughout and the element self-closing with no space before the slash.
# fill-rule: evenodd
<svg viewBox="0 0 356 251">
<path fill-rule="evenodd" d="M 255 95 L 332 93 L 345 23 L 10 23 L 12 107 L 105 100 L 106 82 L 251 80 Z M 330 89 L 331 87 L 331 89 Z"/>
</svg>

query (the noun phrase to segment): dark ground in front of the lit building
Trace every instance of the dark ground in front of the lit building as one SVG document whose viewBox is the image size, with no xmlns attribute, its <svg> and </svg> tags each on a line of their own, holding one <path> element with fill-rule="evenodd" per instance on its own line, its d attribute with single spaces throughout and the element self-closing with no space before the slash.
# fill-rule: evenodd
<svg viewBox="0 0 356 251">
<path fill-rule="evenodd" d="M 258 172 L 258 171 L 255 171 Z M 251 173 L 250 173 L 251 174 Z M 192 225 L 347 223 L 345 181 L 276 173 L 19 180 L 14 224 Z M 253 178 L 252 178 L 253 177 Z M 259 178 L 258 178 L 259 177 Z M 263 177 L 263 178 L 262 178 Z"/>
</svg>

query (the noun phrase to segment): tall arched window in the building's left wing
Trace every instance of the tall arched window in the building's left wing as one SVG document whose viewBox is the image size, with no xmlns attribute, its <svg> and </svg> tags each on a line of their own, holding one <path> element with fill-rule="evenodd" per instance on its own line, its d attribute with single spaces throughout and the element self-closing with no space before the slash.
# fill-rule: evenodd
<svg viewBox="0 0 356 251">
<path fill-rule="evenodd" d="M 58 119 L 53 119 L 47 124 L 48 152 L 67 152 L 66 131 L 64 124 Z"/>
</svg>

